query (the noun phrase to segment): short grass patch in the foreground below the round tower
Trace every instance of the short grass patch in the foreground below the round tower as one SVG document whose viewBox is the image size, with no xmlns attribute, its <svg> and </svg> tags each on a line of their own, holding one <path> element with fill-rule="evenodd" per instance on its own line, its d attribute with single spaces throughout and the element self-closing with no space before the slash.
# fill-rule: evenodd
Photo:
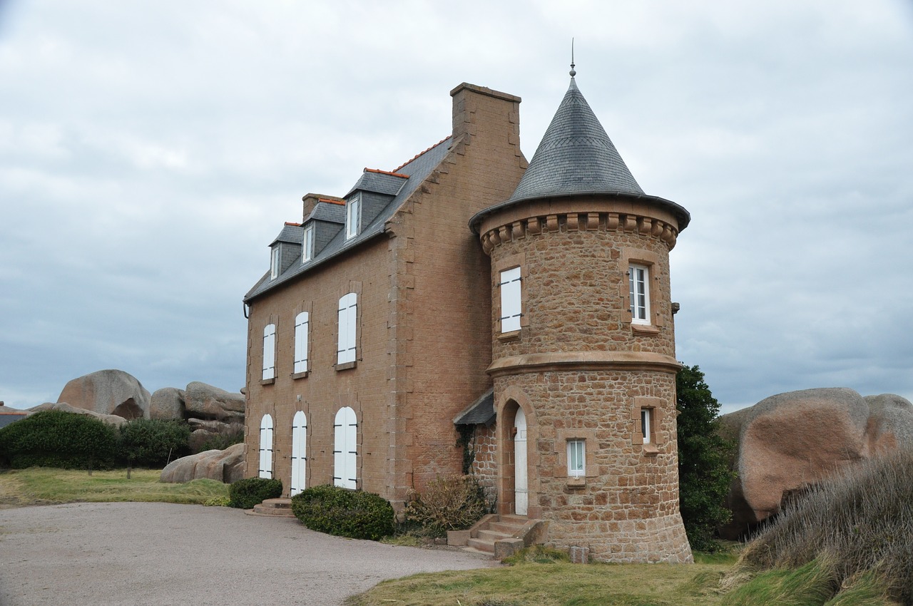
<svg viewBox="0 0 913 606">
<path fill-rule="evenodd" d="M 533 556 L 535 557 L 535 556 Z M 731 563 L 570 564 L 519 561 L 383 581 L 350 606 L 713 606 Z"/>
</svg>

